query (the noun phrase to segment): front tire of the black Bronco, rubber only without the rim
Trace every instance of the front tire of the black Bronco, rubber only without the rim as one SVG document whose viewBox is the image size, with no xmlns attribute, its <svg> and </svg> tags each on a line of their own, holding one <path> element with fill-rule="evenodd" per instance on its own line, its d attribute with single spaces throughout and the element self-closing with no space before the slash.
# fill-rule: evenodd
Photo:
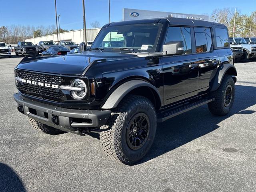
<svg viewBox="0 0 256 192">
<path fill-rule="evenodd" d="M 130 120 L 139 113 L 148 116 L 150 128 L 144 145 L 137 150 L 132 150 L 126 142 L 126 130 Z M 107 156 L 124 164 L 135 164 L 146 155 L 152 146 L 156 126 L 156 112 L 152 102 L 143 96 L 128 95 L 123 98 L 115 112 L 111 114 L 108 124 L 101 127 L 106 129 L 106 131 L 100 132 L 100 141 L 104 152 Z"/>
</svg>

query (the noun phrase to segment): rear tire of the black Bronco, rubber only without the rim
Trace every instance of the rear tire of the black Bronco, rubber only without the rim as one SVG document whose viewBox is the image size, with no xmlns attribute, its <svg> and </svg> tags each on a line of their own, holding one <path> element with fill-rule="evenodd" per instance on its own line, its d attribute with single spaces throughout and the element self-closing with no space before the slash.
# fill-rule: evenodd
<svg viewBox="0 0 256 192">
<path fill-rule="evenodd" d="M 228 86 L 231 86 L 232 88 L 232 97 L 230 104 L 228 106 L 225 106 L 224 104 L 224 96 L 225 91 Z M 225 75 L 222 79 L 222 82 L 219 86 L 219 88 L 210 93 L 213 98 L 215 98 L 214 101 L 208 103 L 208 108 L 210 112 L 214 115 L 224 116 L 230 112 L 235 98 L 235 83 L 233 78 L 230 75 Z"/>
</svg>

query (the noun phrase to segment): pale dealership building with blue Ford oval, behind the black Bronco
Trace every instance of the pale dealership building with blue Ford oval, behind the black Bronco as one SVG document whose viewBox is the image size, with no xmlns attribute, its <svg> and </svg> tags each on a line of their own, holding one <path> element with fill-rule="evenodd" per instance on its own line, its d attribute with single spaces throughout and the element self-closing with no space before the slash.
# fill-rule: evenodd
<svg viewBox="0 0 256 192">
<path fill-rule="evenodd" d="M 189 18 L 189 19 L 204 20 L 204 21 L 209 20 L 209 16 L 207 15 L 183 14 L 183 13 L 149 11 L 149 10 L 127 9 L 127 8 L 123 9 L 122 20 L 129 21 L 129 20 L 164 18 L 164 17 Z M 87 41 L 93 41 L 96 38 L 99 31 L 100 31 L 100 28 L 86 29 Z M 73 41 L 77 44 L 80 44 L 80 42 L 84 41 L 83 33 L 84 33 L 83 29 L 60 33 L 59 40 Z M 38 42 L 40 41 L 58 42 L 58 38 L 57 38 L 57 34 L 54 34 L 54 35 L 46 35 L 42 37 L 26 39 L 25 41 L 38 44 Z"/>
</svg>

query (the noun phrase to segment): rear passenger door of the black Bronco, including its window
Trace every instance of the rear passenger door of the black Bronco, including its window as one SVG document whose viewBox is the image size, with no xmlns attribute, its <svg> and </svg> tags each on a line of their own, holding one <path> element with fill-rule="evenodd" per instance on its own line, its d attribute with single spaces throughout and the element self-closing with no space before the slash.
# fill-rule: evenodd
<svg viewBox="0 0 256 192">
<path fill-rule="evenodd" d="M 219 56 L 214 50 L 213 29 L 206 27 L 194 27 L 196 43 L 196 56 L 198 65 L 198 92 L 203 94 L 208 90 L 212 73 L 218 67 Z"/>
</svg>

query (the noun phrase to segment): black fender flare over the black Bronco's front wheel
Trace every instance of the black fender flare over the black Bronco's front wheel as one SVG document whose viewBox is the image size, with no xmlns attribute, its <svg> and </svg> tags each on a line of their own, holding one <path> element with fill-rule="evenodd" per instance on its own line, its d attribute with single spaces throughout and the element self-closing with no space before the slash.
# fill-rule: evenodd
<svg viewBox="0 0 256 192">
<path fill-rule="evenodd" d="M 118 86 L 108 96 L 101 108 L 116 108 L 127 94 L 140 95 L 148 98 L 154 104 L 156 110 L 162 106 L 160 93 L 155 86 L 144 80 L 129 80 Z"/>
</svg>

